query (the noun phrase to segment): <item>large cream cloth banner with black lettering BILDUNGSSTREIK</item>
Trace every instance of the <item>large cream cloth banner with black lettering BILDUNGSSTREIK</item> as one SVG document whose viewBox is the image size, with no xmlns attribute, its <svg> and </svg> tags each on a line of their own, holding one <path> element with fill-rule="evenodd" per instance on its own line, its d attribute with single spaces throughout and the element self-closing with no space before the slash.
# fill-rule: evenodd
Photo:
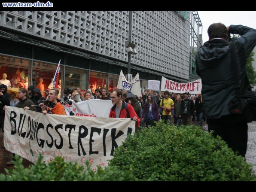
<svg viewBox="0 0 256 192">
<path fill-rule="evenodd" d="M 114 149 L 134 131 L 129 118 L 44 115 L 6 106 L 4 146 L 33 163 L 42 153 L 46 163 L 61 156 L 80 165 L 88 160 L 96 170 L 108 165 Z"/>
</svg>

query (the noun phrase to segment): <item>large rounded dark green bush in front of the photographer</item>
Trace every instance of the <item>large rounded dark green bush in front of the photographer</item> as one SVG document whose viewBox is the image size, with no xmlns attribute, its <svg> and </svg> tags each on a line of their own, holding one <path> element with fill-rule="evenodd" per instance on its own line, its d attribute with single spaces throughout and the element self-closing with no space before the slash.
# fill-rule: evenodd
<svg viewBox="0 0 256 192">
<path fill-rule="evenodd" d="M 163 122 L 143 128 L 119 146 L 110 165 L 133 170 L 140 181 L 255 181 L 252 165 L 195 125 Z"/>
</svg>

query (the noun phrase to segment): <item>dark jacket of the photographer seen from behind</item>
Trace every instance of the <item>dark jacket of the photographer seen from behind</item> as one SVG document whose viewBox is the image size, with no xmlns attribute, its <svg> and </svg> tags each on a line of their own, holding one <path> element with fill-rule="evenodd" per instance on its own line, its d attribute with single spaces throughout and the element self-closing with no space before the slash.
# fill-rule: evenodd
<svg viewBox="0 0 256 192">
<path fill-rule="evenodd" d="M 246 59 L 256 45 L 256 30 L 242 25 L 230 25 L 231 34 L 241 37 L 234 40 L 241 93 L 246 92 Z M 231 114 L 229 103 L 235 98 L 234 79 L 229 45 L 226 40 L 213 39 L 204 43 L 196 55 L 196 73 L 202 79 L 204 114 L 209 119 L 219 119 Z"/>
</svg>

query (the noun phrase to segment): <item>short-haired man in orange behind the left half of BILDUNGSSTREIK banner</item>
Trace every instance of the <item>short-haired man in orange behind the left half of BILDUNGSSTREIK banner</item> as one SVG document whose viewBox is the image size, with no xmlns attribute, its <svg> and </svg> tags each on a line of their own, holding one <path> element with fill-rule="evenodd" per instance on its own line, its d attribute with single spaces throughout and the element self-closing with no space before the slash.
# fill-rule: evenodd
<svg viewBox="0 0 256 192">
<path fill-rule="evenodd" d="M 57 101 L 58 94 L 59 93 L 56 89 L 51 89 L 49 91 L 49 95 L 48 95 L 49 103 L 48 103 L 47 109 L 44 103 L 40 104 L 43 114 L 49 113 L 49 114 L 57 114 L 57 115 L 67 115 L 65 112 L 64 106 L 61 104 L 61 102 Z"/>
</svg>

